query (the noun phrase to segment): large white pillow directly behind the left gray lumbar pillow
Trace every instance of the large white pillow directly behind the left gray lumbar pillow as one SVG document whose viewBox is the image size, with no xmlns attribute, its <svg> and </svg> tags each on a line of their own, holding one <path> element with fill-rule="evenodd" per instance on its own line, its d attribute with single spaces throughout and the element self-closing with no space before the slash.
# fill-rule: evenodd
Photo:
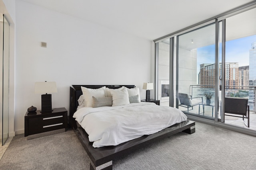
<svg viewBox="0 0 256 170">
<path fill-rule="evenodd" d="M 81 86 L 83 95 L 84 95 L 84 100 L 85 100 L 85 107 L 92 107 L 92 96 L 96 98 L 103 98 L 105 97 L 105 89 L 106 86 L 102 88 L 97 88 L 97 89 L 92 89 L 92 88 L 86 88 Z"/>
</svg>

